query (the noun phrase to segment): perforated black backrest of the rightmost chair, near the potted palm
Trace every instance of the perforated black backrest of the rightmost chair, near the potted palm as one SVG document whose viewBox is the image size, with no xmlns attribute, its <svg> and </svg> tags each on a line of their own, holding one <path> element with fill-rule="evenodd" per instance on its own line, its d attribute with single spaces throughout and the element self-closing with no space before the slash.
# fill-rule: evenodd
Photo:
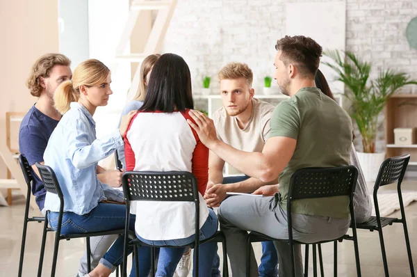
<svg viewBox="0 0 417 277">
<path fill-rule="evenodd" d="M 375 189 L 386 184 L 393 184 L 398 181 L 402 182 L 409 160 L 410 155 L 407 154 L 388 158 L 383 161 L 379 168 Z"/>
</svg>

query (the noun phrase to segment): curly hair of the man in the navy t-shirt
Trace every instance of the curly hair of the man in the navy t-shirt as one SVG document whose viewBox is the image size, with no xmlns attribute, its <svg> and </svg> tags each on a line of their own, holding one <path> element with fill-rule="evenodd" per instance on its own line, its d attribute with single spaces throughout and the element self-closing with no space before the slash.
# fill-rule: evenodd
<svg viewBox="0 0 417 277">
<path fill-rule="evenodd" d="M 44 54 L 35 61 L 31 68 L 31 74 L 26 81 L 26 86 L 31 90 L 31 95 L 40 97 L 40 93 L 44 89 L 40 85 L 40 78 L 49 77 L 49 73 L 55 65 L 70 66 L 71 61 L 67 56 L 55 53 Z"/>
</svg>

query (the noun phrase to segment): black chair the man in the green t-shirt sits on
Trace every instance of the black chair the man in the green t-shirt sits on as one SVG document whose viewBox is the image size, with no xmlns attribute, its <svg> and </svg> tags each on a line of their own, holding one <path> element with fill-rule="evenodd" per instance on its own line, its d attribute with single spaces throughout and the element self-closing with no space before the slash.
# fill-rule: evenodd
<svg viewBox="0 0 417 277">
<path fill-rule="evenodd" d="M 361 266 L 359 263 L 359 249 L 357 242 L 357 230 L 356 222 L 354 219 L 353 209 L 353 196 L 354 189 L 357 184 L 358 170 L 354 166 L 342 166 L 334 168 L 302 168 L 291 176 L 290 187 L 288 189 L 288 200 L 287 200 L 287 214 L 291 214 L 291 204 L 295 200 L 306 199 L 306 198 L 325 198 L 332 196 L 348 196 L 350 198 L 350 216 L 352 218 L 352 240 L 354 242 L 354 254 L 357 264 L 357 276 L 361 276 Z M 307 184 L 307 186 L 306 186 Z M 246 260 L 246 271 L 247 276 L 250 274 L 250 250 L 252 242 L 265 242 L 265 241 L 280 241 L 288 242 L 291 249 L 291 267 L 292 276 L 295 276 L 295 261 L 294 261 L 294 244 L 304 244 L 293 240 L 293 225 L 291 222 L 291 216 L 288 216 L 288 239 L 274 239 L 268 237 L 259 232 L 250 232 L 247 237 L 247 260 Z M 344 236 L 343 236 L 344 237 Z M 321 243 L 334 242 L 336 246 L 337 241 L 343 239 L 332 239 L 324 242 L 317 242 L 319 250 L 319 258 L 321 260 Z M 304 264 L 304 276 L 308 275 L 308 259 L 309 259 L 309 244 L 306 244 L 306 257 Z M 320 264 L 322 269 L 322 262 Z M 316 245 L 313 244 L 313 274 L 317 276 L 316 266 Z M 322 276 L 323 276 L 322 271 Z"/>
</svg>

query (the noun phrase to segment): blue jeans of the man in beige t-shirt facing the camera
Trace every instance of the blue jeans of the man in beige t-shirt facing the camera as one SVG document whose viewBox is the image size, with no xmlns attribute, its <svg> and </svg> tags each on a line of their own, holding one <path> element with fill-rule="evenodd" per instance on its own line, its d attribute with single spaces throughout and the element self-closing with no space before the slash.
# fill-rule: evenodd
<svg viewBox="0 0 417 277">
<path fill-rule="evenodd" d="M 245 181 L 249 178 L 247 175 L 243 176 L 230 176 L 223 178 L 223 184 L 232 184 Z M 227 196 L 230 197 L 230 196 Z M 273 242 L 261 242 L 262 244 L 262 257 L 261 264 L 259 265 L 259 276 L 261 277 L 276 277 L 278 276 L 278 254 L 277 249 Z M 217 247 L 217 245 L 216 245 Z M 216 248 L 217 250 L 217 248 Z M 212 277 L 220 277 L 220 257 L 216 251 L 213 261 L 213 269 L 211 270 Z"/>
</svg>

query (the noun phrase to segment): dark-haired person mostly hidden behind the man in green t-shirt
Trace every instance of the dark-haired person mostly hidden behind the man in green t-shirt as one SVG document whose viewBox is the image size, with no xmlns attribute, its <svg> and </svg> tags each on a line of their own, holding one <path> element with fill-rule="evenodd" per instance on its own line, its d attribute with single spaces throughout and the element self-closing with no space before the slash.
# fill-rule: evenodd
<svg viewBox="0 0 417 277">
<path fill-rule="evenodd" d="M 325 75 L 322 74 L 320 70 L 317 70 L 316 73 L 316 86 L 319 88 L 322 93 L 327 95 L 328 97 L 334 99 L 332 90 L 329 88 L 329 84 L 327 84 L 327 80 L 325 78 Z M 370 200 L 370 196 L 368 193 L 368 187 L 366 187 L 366 181 L 363 177 L 363 172 L 361 169 L 361 165 L 359 164 L 358 157 L 356 150 L 354 149 L 354 145 L 352 143 L 352 152 L 350 152 L 350 164 L 353 166 L 356 166 L 358 168 L 358 182 L 357 187 L 355 189 L 354 193 L 354 216 L 356 218 L 357 223 L 363 223 L 368 221 L 370 219 L 371 213 L 372 213 L 372 203 Z"/>
</svg>

